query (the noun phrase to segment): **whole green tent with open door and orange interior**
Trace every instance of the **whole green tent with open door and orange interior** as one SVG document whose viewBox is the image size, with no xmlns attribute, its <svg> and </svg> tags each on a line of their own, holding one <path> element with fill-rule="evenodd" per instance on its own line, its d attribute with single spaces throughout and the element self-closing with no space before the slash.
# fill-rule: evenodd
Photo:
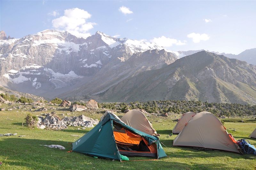
<svg viewBox="0 0 256 170">
<path fill-rule="evenodd" d="M 121 156 L 166 157 L 159 138 L 126 125 L 115 114 L 106 112 L 101 121 L 72 143 L 72 151 L 103 158 Z"/>
</svg>

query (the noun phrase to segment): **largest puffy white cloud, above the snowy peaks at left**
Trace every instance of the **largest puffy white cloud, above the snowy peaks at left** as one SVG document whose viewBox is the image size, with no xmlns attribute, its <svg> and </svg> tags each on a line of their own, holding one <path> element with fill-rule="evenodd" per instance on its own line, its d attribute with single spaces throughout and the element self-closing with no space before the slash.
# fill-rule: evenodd
<svg viewBox="0 0 256 170">
<path fill-rule="evenodd" d="M 57 29 L 64 29 L 77 37 L 86 38 L 91 36 L 88 31 L 96 25 L 96 23 L 86 21 L 91 16 L 90 13 L 79 8 L 67 9 L 63 16 L 52 20 L 52 26 Z"/>
</svg>

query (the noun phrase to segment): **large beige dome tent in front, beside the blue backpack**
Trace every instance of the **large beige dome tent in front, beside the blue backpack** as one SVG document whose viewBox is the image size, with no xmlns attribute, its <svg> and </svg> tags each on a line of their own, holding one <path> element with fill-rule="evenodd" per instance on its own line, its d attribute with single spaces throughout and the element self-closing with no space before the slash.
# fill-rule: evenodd
<svg viewBox="0 0 256 170">
<path fill-rule="evenodd" d="M 239 152 L 239 146 L 234 142 L 216 116 L 210 112 L 200 112 L 190 119 L 180 134 L 173 140 L 173 146 Z"/>
</svg>

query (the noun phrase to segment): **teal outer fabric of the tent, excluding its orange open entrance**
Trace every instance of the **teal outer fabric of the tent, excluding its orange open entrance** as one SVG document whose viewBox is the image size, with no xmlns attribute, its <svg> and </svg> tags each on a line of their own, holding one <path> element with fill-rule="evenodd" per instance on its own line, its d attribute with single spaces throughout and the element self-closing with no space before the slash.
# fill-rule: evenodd
<svg viewBox="0 0 256 170">
<path fill-rule="evenodd" d="M 103 120 L 101 120 L 83 137 L 72 143 L 72 151 L 121 161 L 121 156 L 113 134 L 113 121 L 125 129 L 145 138 L 148 141 L 148 144 L 156 143 L 157 159 L 167 156 L 159 142 L 158 137 L 150 136 L 137 129 L 133 129 L 132 127 L 116 119 L 111 112 L 106 112 Z"/>
</svg>

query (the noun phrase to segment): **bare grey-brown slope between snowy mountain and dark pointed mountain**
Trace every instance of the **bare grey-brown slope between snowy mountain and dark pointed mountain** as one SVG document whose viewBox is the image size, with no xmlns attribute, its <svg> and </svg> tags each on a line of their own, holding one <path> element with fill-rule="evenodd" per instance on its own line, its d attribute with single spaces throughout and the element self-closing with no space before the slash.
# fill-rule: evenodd
<svg viewBox="0 0 256 170">
<path fill-rule="evenodd" d="M 177 59 L 175 54 L 166 52 L 164 49 L 134 53 L 124 62 L 108 63 L 94 75 L 92 80 L 85 83 L 82 87 L 61 94 L 59 97 L 80 100 L 83 99 L 84 94 L 94 95 L 104 92 L 128 77 L 133 77 L 147 70 L 162 68 Z"/>
</svg>

